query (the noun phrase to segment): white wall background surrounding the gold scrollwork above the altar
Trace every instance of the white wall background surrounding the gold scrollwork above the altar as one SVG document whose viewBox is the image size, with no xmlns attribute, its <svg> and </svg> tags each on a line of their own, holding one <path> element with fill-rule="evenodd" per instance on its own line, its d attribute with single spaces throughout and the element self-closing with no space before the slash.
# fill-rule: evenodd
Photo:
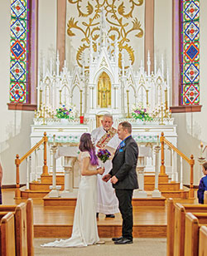
<svg viewBox="0 0 207 256">
<path fill-rule="evenodd" d="M 75 2 L 75 1 L 73 1 Z M 123 24 L 127 24 L 128 26 L 125 27 L 125 31 L 128 32 L 129 30 L 132 29 L 132 21 L 137 17 L 137 21 L 141 22 L 141 28 L 142 30 L 144 30 L 144 9 L 145 9 L 145 4 L 143 2 L 143 4 L 141 6 L 133 6 L 132 7 L 132 3 L 129 1 L 115 1 L 114 5 L 118 7 L 122 4 L 122 2 L 124 3 L 124 14 L 128 14 L 129 12 L 131 12 L 132 10 L 132 17 L 124 18 L 123 19 Z M 93 10 L 96 10 L 96 2 L 95 1 L 89 1 L 89 3 L 93 6 Z M 111 1 L 109 1 L 109 3 L 111 3 Z M 88 1 L 82 1 L 79 2 L 79 9 L 81 12 L 87 13 L 87 9 L 86 6 L 88 5 Z M 110 8 L 108 7 L 108 10 L 110 10 Z M 67 1 L 67 13 L 66 13 L 66 23 L 68 23 L 70 21 L 71 17 L 74 17 L 74 22 L 78 22 L 77 26 L 81 27 L 83 29 L 83 31 L 85 31 L 86 26 L 83 25 L 82 22 L 85 22 L 87 24 L 89 24 L 89 18 L 93 19 L 94 18 L 94 13 L 92 12 L 89 17 L 79 17 L 79 11 L 77 9 L 77 3 L 70 3 Z M 101 13 L 100 13 L 101 16 Z M 108 20 L 110 22 L 113 22 L 114 24 L 118 24 L 118 21 L 114 18 L 112 18 L 110 15 L 107 16 Z M 118 19 L 121 18 L 121 16 L 118 14 Z M 94 19 L 94 23 L 96 22 L 100 22 L 101 17 Z M 94 27 L 99 27 L 99 25 L 94 26 Z M 92 31 L 94 29 L 94 27 L 90 27 L 90 31 Z M 108 22 L 106 22 L 106 27 L 109 29 L 109 27 L 117 27 L 118 31 L 120 32 L 121 27 L 118 26 L 113 26 L 111 24 L 109 24 Z M 68 63 L 68 66 L 70 68 L 70 70 L 72 70 L 72 68 L 74 67 L 75 61 L 76 60 L 76 54 L 78 52 L 79 47 L 83 47 L 83 45 L 88 45 L 87 42 L 81 42 L 81 40 L 85 37 L 84 32 L 81 32 L 79 29 L 75 29 L 72 28 L 71 31 L 75 34 L 74 37 L 69 37 L 67 34 L 67 26 L 65 27 L 66 30 L 66 38 L 65 38 L 65 43 L 66 43 L 66 48 L 65 48 L 65 56 L 66 56 L 66 60 Z M 141 62 L 144 60 L 144 35 L 143 37 L 135 37 L 135 35 L 137 35 L 139 33 L 139 31 L 135 30 L 133 32 L 129 32 L 127 39 L 129 40 L 129 42 L 127 42 L 129 47 L 132 47 L 132 50 L 134 51 L 134 64 L 133 66 L 137 69 Z M 94 34 L 99 34 L 99 32 L 95 32 Z M 111 33 L 112 34 L 112 33 Z M 113 32 L 113 34 L 115 34 L 116 37 L 118 37 L 118 33 Z M 120 39 L 119 39 L 120 40 Z M 124 45 L 126 45 L 126 43 L 124 43 Z M 124 52 L 124 57 L 125 57 L 125 63 L 126 66 L 128 65 L 128 60 L 129 60 L 129 56 L 126 50 L 123 51 Z M 87 59 L 87 54 L 89 54 L 89 51 L 86 49 L 84 51 L 84 58 L 85 60 Z"/>
</svg>

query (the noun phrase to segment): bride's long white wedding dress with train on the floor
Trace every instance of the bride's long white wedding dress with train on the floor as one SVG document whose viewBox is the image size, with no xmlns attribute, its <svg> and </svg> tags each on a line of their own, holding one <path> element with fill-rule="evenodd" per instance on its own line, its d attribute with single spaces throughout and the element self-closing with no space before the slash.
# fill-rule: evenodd
<svg viewBox="0 0 207 256">
<path fill-rule="evenodd" d="M 79 164 L 82 165 L 84 157 L 89 157 L 89 152 L 81 152 Z M 96 170 L 96 165 L 89 164 L 89 170 Z M 81 176 L 79 192 L 75 206 L 73 231 L 70 239 L 60 239 L 55 242 L 43 244 L 43 247 L 82 247 L 99 242 L 96 221 L 97 204 L 97 176 Z"/>
</svg>

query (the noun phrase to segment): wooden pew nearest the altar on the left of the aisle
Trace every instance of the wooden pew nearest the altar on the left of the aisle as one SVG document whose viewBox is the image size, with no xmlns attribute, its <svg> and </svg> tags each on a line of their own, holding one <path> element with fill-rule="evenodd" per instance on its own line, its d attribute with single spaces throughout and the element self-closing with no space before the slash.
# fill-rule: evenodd
<svg viewBox="0 0 207 256">
<path fill-rule="evenodd" d="M 27 199 L 26 204 L 0 205 L 1 211 L 15 213 L 16 255 L 34 255 L 33 201 Z"/>
</svg>

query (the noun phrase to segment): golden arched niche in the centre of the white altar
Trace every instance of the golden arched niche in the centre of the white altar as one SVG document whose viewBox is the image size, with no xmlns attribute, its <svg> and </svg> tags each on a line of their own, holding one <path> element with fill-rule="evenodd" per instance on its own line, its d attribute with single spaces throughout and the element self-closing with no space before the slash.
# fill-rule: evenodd
<svg viewBox="0 0 207 256">
<path fill-rule="evenodd" d="M 99 76 L 98 106 L 104 108 L 111 106 L 111 80 L 106 72 L 103 72 Z"/>
</svg>

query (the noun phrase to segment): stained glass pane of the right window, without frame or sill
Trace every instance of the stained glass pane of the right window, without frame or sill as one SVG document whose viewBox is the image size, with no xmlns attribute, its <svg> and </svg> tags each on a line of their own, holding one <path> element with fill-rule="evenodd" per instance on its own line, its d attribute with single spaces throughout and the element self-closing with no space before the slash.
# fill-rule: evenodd
<svg viewBox="0 0 207 256">
<path fill-rule="evenodd" d="M 200 104 L 200 1 L 181 0 L 181 105 Z"/>
</svg>

